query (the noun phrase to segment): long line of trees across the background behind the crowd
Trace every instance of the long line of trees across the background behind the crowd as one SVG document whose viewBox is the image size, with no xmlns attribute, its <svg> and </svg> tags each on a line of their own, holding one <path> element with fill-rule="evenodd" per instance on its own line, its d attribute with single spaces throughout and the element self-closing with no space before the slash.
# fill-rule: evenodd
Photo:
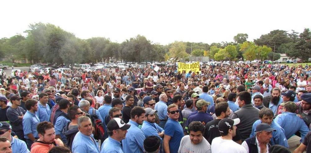
<svg viewBox="0 0 311 153">
<path fill-rule="evenodd" d="M 122 43 L 109 38 L 77 38 L 74 34 L 53 24 L 30 24 L 21 34 L 0 39 L 0 58 L 14 60 L 27 59 L 31 63 L 46 62 L 58 64 L 90 62 L 152 62 L 166 61 L 169 58 L 186 61 L 190 56 L 209 56 L 221 60 L 277 60 L 280 53 L 290 57 L 308 60 L 311 51 L 311 32 L 273 30 L 253 42 L 247 41 L 248 34 L 237 34 L 234 42 L 192 43 L 175 41 L 168 45 L 152 43 L 145 36 L 137 35 Z"/>
</svg>

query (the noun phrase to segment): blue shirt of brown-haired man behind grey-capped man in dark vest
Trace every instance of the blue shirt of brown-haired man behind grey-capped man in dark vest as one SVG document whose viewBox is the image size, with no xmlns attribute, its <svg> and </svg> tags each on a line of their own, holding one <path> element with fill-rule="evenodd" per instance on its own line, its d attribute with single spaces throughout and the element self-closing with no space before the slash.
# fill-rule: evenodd
<svg viewBox="0 0 311 153">
<path fill-rule="evenodd" d="M 262 123 L 260 119 L 258 119 L 256 122 L 254 122 L 252 127 L 252 133 L 249 137 L 255 136 L 255 130 L 258 124 Z M 289 148 L 287 139 L 285 137 L 285 131 L 284 129 L 277 124 L 274 120 L 271 123 L 271 127 L 274 128 L 276 131 L 272 132 L 272 138 L 270 139 L 270 144 L 272 145 L 281 145 L 286 148 Z"/>
</svg>

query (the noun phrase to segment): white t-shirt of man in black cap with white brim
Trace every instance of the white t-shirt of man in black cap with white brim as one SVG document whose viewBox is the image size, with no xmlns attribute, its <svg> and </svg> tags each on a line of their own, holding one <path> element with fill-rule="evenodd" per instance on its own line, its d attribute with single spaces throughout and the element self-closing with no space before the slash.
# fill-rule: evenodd
<svg viewBox="0 0 311 153">
<path fill-rule="evenodd" d="M 246 153 L 245 148 L 233 140 L 216 137 L 211 145 L 212 153 Z"/>
</svg>

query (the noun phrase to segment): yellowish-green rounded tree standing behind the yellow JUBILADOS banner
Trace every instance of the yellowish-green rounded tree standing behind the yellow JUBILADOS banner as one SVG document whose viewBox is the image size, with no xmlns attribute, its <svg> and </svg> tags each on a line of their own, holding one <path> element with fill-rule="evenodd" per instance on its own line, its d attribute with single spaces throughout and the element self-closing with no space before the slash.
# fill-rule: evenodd
<svg viewBox="0 0 311 153">
<path fill-rule="evenodd" d="M 183 42 L 175 41 L 169 49 L 169 55 L 175 58 L 175 60 L 187 57 L 186 45 Z"/>
</svg>

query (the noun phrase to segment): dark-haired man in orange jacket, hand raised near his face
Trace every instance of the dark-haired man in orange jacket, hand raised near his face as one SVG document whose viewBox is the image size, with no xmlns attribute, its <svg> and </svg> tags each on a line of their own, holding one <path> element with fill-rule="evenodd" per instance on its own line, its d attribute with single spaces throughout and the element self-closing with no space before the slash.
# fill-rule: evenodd
<svg viewBox="0 0 311 153">
<path fill-rule="evenodd" d="M 60 139 L 55 139 L 55 130 L 52 123 L 47 121 L 39 123 L 37 131 L 39 139 L 32 144 L 31 153 L 48 153 L 54 147 L 54 144 L 64 146 Z"/>
</svg>

